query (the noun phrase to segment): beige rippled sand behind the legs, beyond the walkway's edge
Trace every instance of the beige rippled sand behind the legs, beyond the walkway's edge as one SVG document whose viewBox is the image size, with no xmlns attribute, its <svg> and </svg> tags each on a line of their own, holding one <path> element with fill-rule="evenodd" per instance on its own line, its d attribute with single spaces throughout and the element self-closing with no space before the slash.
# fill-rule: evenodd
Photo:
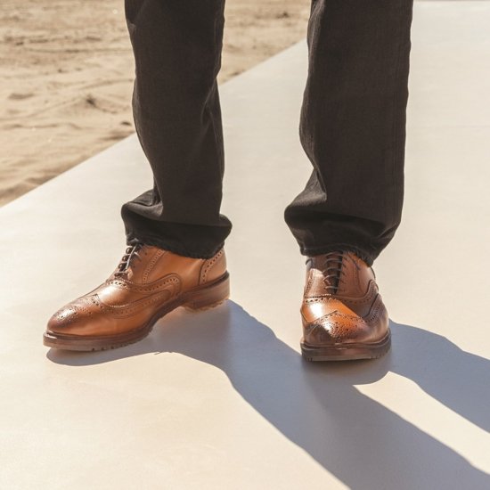
<svg viewBox="0 0 490 490">
<path fill-rule="evenodd" d="M 227 0 L 238 75 L 306 36 L 309 0 Z M 122 0 L 2 0 L 0 205 L 134 132 Z"/>
</svg>

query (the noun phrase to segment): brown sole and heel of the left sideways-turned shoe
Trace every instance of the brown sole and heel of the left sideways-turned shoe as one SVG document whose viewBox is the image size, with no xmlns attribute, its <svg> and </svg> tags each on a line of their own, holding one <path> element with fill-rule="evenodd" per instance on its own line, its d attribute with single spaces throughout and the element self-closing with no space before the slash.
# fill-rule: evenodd
<svg viewBox="0 0 490 490">
<path fill-rule="evenodd" d="M 215 282 L 211 282 L 205 287 L 189 290 L 173 301 L 161 306 L 161 308 L 153 314 L 149 322 L 133 331 L 127 331 L 111 336 L 90 337 L 61 335 L 46 331 L 43 335 L 43 343 L 46 347 L 82 352 L 125 347 L 147 337 L 151 332 L 153 325 L 157 323 L 161 317 L 175 310 L 179 306 L 185 306 L 187 309 L 193 311 L 205 310 L 220 305 L 228 299 L 229 296 L 230 275 L 226 273 Z"/>
</svg>

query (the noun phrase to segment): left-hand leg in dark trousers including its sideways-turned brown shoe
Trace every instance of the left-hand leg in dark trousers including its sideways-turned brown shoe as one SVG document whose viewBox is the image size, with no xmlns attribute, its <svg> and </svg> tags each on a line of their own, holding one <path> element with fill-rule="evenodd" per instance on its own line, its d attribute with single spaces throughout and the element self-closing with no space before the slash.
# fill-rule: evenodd
<svg viewBox="0 0 490 490">
<path fill-rule="evenodd" d="M 122 347 L 178 306 L 215 306 L 229 294 L 216 85 L 224 0 L 127 0 L 126 10 L 135 123 L 154 188 L 123 206 L 126 254 L 98 288 L 53 314 L 49 347 Z"/>
</svg>

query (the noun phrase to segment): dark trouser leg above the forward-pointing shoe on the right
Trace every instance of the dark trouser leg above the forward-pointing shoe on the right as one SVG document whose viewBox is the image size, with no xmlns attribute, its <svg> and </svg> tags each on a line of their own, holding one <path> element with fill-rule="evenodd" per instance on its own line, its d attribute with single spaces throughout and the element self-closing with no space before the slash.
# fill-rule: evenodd
<svg viewBox="0 0 490 490">
<path fill-rule="evenodd" d="M 313 173 L 286 208 L 301 253 L 393 238 L 404 193 L 412 0 L 313 0 L 300 139 Z"/>
</svg>

